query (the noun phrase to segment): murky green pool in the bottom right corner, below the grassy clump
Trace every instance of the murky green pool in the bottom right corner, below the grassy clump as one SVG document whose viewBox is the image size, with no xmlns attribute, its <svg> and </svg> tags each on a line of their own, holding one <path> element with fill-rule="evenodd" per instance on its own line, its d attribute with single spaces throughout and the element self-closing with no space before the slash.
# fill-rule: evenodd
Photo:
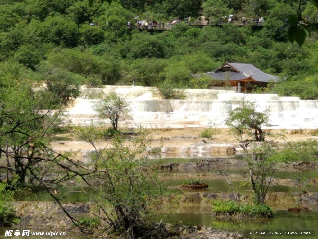
<svg viewBox="0 0 318 239">
<path fill-rule="evenodd" d="M 187 226 L 204 225 L 214 229 L 227 230 L 243 234 L 245 230 L 315 230 L 315 236 L 260 236 L 248 238 L 270 238 L 270 239 L 287 239 L 302 238 L 314 239 L 318 238 L 318 211 L 304 213 L 289 213 L 287 211 L 277 211 L 272 219 L 215 219 L 211 213 L 193 212 L 191 209 L 186 213 L 158 214 L 152 219 L 159 222 L 176 223 Z"/>
</svg>

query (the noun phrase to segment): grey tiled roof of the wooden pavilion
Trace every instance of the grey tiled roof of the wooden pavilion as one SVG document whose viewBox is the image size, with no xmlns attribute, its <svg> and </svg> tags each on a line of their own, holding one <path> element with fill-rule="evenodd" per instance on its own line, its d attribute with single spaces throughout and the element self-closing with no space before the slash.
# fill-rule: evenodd
<svg viewBox="0 0 318 239">
<path fill-rule="evenodd" d="M 213 72 L 207 72 L 205 75 L 212 76 L 218 80 L 224 80 L 227 77 L 226 71 L 218 71 L 223 67 L 231 67 L 233 70 L 235 70 L 229 72 L 232 81 L 239 81 L 247 78 L 251 78 L 254 81 L 259 82 L 268 82 L 269 80 L 276 82 L 278 80 L 278 76 L 266 74 L 265 72 L 253 66 L 251 63 L 237 62 L 226 62 L 226 64 L 221 66 L 219 69 Z"/>
</svg>

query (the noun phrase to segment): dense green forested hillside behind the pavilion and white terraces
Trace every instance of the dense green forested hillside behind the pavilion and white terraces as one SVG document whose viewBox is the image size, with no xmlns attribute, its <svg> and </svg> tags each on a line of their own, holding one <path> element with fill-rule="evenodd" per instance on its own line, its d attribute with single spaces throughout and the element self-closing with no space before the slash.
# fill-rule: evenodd
<svg viewBox="0 0 318 239">
<path fill-rule="evenodd" d="M 225 63 L 250 62 L 281 80 L 269 92 L 318 98 L 318 44 L 312 33 L 302 47 L 281 27 L 295 14 L 295 0 L 0 0 L 0 87 L 10 79 L 207 88 L 192 78 Z M 98 8 L 100 6 L 100 8 Z M 303 17 L 317 22 L 318 9 L 301 1 Z M 218 21 L 263 17 L 263 28 L 190 26 L 185 18 Z M 167 23 L 171 30 L 139 31 L 136 20 Z M 131 29 L 127 22 L 131 22 Z M 94 25 L 91 25 L 93 23 Z"/>
</svg>

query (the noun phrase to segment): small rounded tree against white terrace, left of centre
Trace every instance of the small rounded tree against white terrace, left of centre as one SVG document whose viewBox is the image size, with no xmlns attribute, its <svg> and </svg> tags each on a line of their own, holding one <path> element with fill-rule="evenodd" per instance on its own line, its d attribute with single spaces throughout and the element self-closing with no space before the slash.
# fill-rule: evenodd
<svg viewBox="0 0 318 239">
<path fill-rule="evenodd" d="M 101 103 L 96 105 L 96 111 L 98 117 L 111 123 L 115 131 L 117 131 L 119 121 L 131 119 L 129 102 L 116 93 L 108 94 Z"/>
</svg>

